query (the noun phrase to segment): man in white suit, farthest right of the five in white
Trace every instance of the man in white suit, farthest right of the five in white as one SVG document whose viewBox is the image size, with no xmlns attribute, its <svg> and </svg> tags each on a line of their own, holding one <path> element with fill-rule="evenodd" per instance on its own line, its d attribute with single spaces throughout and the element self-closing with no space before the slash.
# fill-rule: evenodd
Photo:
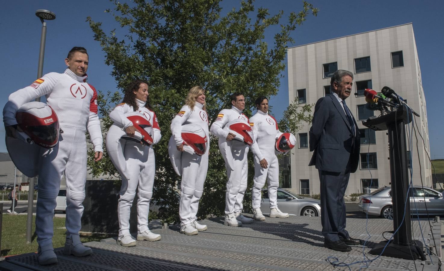
<svg viewBox="0 0 444 271">
<path fill-rule="evenodd" d="M 268 197 L 270 199 L 270 217 L 285 218 L 289 214 L 277 208 L 277 187 L 279 187 L 279 163 L 274 152 L 276 139 L 282 134 L 277 121 L 268 115 L 268 99 L 260 96 L 256 99 L 258 112 L 250 118 L 256 142 L 251 145 L 254 154 L 254 179 L 251 197 L 253 201 L 253 218 L 265 220 L 261 211 L 261 190 L 268 179 Z"/>
</svg>

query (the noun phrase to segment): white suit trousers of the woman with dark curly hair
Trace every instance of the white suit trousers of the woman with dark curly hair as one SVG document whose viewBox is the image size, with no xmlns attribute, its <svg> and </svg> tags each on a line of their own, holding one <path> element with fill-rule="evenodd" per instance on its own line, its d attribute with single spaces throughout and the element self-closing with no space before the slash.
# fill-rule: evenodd
<svg viewBox="0 0 444 271">
<path fill-rule="evenodd" d="M 150 212 L 150 200 L 153 196 L 156 169 L 154 150 L 151 146 L 143 146 L 140 143 L 128 140 L 125 144 L 123 156 L 126 159 L 129 179 L 122 175 L 122 186 L 120 187 L 120 198 L 117 207 L 119 235 L 130 233 L 130 209 L 138 186 L 137 231 L 141 233 L 148 229 L 148 214 Z"/>
</svg>

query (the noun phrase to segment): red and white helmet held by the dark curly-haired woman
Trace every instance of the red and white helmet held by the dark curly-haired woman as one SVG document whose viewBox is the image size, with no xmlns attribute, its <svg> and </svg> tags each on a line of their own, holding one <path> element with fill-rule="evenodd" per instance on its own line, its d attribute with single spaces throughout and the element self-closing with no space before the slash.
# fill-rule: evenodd
<svg viewBox="0 0 444 271">
<path fill-rule="evenodd" d="M 134 137 L 128 136 L 125 133 L 122 138 L 136 142 L 142 141 L 147 145 L 151 145 L 153 143 L 153 127 L 150 121 L 140 112 L 129 112 L 125 116 L 128 120 L 131 120 L 136 131 Z"/>
</svg>

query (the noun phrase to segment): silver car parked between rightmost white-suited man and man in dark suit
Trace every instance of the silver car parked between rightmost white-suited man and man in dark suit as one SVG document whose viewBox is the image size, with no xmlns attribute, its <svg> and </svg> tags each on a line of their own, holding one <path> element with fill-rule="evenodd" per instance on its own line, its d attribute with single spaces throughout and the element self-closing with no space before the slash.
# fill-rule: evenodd
<svg viewBox="0 0 444 271">
<path fill-rule="evenodd" d="M 270 214 L 270 201 L 267 189 L 262 189 L 261 211 Z M 290 215 L 321 215 L 321 201 L 319 199 L 305 198 L 282 188 L 277 188 L 277 207 Z"/>
</svg>

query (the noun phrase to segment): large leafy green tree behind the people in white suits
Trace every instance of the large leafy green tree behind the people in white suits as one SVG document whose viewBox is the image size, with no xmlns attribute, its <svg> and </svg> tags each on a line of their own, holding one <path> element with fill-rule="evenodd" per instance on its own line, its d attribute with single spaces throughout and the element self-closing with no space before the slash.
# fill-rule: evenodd
<svg viewBox="0 0 444 271">
<path fill-rule="evenodd" d="M 301 11 L 290 12 L 286 23 L 281 24 L 283 11 L 270 15 L 266 8 L 254 8 L 253 0 L 242 1 L 240 8 L 233 8 L 225 16 L 221 16 L 220 0 L 112 2 L 114 8 L 107 12 L 113 14 L 123 31 L 127 31 L 125 36 L 118 37 L 115 31 L 105 33 L 102 23 L 90 17 L 87 21 L 94 39 L 106 53 L 105 63 L 113 67 L 111 74 L 120 90 L 137 78 L 149 82 L 151 104 L 163 135 L 154 146 L 153 198 L 160 204 L 168 204 L 170 215 L 177 219 L 178 202 L 171 187 L 180 177 L 171 167 L 167 144 L 171 136 L 170 121 L 182 107 L 188 90 L 194 85 L 206 89 L 210 124 L 217 113 L 228 106 L 229 96 L 234 92 L 244 94 L 245 112 L 251 116 L 257 96 L 277 94 L 285 68 L 286 47 L 293 42 L 290 33 L 310 13 L 316 16 L 317 9 L 304 1 Z M 279 25 L 273 44 L 268 44 L 264 32 Z M 107 112 L 118 97 L 119 93 L 109 92 L 100 96 L 105 127 L 110 125 Z M 224 209 L 226 172 L 216 142 L 211 136 L 210 164 L 199 206 L 200 217 L 221 215 Z M 116 172 L 107 156 L 98 165 L 89 163 L 89 166 L 94 174 L 115 175 Z"/>
</svg>

